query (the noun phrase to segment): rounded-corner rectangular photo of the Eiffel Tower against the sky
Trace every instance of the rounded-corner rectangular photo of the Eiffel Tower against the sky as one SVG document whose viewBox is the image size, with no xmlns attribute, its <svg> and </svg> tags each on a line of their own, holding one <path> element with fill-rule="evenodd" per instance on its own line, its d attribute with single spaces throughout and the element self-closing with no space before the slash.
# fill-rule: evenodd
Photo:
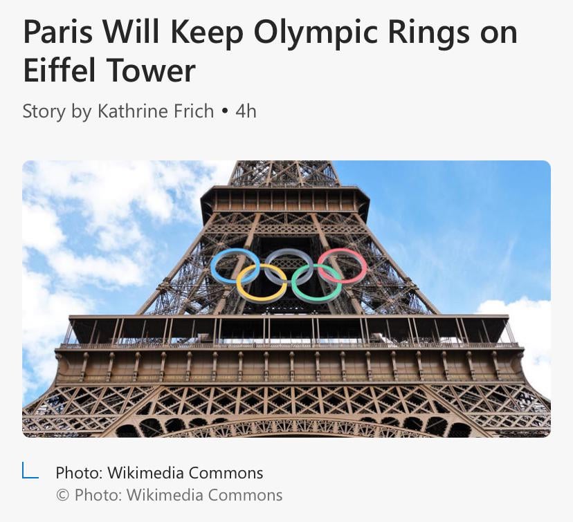
<svg viewBox="0 0 573 522">
<path fill-rule="evenodd" d="M 27 161 L 22 431 L 546 437 L 550 171 Z"/>
</svg>

